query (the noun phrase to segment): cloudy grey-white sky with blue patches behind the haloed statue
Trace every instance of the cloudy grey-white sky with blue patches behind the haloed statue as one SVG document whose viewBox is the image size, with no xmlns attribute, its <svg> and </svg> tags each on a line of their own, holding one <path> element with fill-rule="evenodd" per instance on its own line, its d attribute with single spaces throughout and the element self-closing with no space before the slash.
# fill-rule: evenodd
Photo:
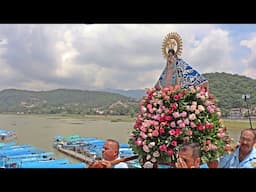
<svg viewBox="0 0 256 192">
<path fill-rule="evenodd" d="M 256 79 L 256 24 L 0 24 L 0 90 L 152 87 L 170 32 L 198 72 Z"/>
</svg>

